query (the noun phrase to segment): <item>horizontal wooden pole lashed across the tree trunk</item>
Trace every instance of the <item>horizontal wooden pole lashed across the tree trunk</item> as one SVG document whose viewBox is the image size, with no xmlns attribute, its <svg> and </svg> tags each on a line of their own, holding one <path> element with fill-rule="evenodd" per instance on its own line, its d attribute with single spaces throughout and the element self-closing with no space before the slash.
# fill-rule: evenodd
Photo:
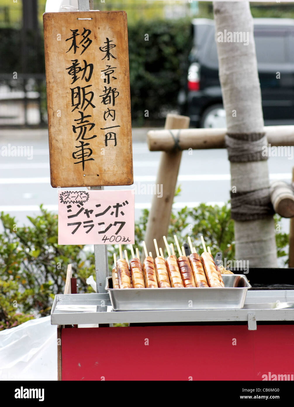
<svg viewBox="0 0 294 407">
<path fill-rule="evenodd" d="M 178 126 L 179 128 L 179 126 Z M 227 129 L 184 129 L 173 130 L 174 136 L 179 136 L 179 147 L 182 150 L 224 149 Z M 175 129 L 175 128 L 174 128 Z M 294 126 L 265 126 L 268 144 L 272 147 L 293 146 Z M 151 130 L 147 133 L 147 144 L 150 151 L 171 151 L 175 141 L 170 131 Z"/>
</svg>

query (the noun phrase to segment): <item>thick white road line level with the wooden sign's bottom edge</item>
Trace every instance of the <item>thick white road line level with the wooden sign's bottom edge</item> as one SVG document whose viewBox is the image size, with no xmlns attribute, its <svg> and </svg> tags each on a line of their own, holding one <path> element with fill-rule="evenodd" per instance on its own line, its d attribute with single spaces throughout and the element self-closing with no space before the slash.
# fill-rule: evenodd
<svg viewBox="0 0 294 407">
<path fill-rule="evenodd" d="M 178 182 L 184 181 L 229 181 L 229 174 L 199 174 L 199 175 L 179 175 Z M 292 179 L 291 173 L 270 174 L 270 179 Z M 155 175 L 137 175 L 134 182 L 155 182 Z M 50 184 L 50 177 L 29 177 L 29 178 L 0 178 L 0 184 Z"/>
</svg>

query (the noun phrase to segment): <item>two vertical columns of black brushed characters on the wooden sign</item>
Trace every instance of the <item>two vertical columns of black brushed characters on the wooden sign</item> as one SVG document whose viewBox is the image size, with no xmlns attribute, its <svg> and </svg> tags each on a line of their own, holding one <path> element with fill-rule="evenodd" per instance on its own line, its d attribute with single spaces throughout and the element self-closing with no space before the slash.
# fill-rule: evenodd
<svg viewBox="0 0 294 407">
<path fill-rule="evenodd" d="M 71 77 L 70 85 L 73 85 L 73 87 L 70 87 L 69 93 L 71 95 L 71 113 L 74 112 L 76 117 L 73 119 L 76 123 L 72 125 L 72 131 L 76 137 L 76 150 L 73 151 L 72 158 L 75 160 L 74 164 L 81 164 L 84 171 L 85 162 L 94 161 L 94 158 L 91 157 L 93 154 L 93 146 L 89 140 L 96 138 L 97 134 L 93 134 L 92 132 L 95 123 L 93 123 L 91 114 L 86 114 L 86 110 L 89 106 L 93 109 L 96 108 L 93 103 L 95 95 L 92 81 L 95 78 L 95 74 L 97 75 L 97 72 L 95 72 L 93 63 L 87 60 L 86 50 L 92 44 L 90 37 L 91 30 L 84 27 L 81 34 L 78 32 L 78 29 L 70 31 L 71 37 L 65 41 L 71 42 L 66 53 L 72 53 L 74 55 L 73 59 L 71 59 L 71 65 L 66 68 L 67 73 Z M 107 61 L 111 62 L 112 59 L 117 59 L 112 51 L 116 45 L 113 44 L 113 40 L 108 37 L 106 37 L 104 44 L 106 45 L 100 46 L 99 50 L 103 53 L 101 59 L 106 59 L 106 65 L 105 69 L 101 70 L 99 76 L 103 79 L 105 85 L 99 97 L 101 98 L 101 103 L 104 105 L 103 120 L 106 127 L 100 127 L 100 130 L 103 130 L 105 147 L 108 147 L 110 142 L 116 147 L 116 128 L 120 127 L 120 125 L 116 125 L 115 99 L 119 96 L 119 92 L 117 88 L 115 88 L 115 85 L 113 85 L 113 81 L 117 79 L 115 77 L 115 69 L 117 67 L 111 66 L 111 63 L 110 65 L 107 64 Z"/>
</svg>

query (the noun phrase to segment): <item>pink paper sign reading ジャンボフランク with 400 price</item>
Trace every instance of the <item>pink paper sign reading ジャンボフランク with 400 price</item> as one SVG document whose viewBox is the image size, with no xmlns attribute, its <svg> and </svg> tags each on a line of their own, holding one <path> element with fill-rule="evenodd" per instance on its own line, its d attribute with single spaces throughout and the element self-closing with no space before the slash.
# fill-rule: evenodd
<svg viewBox="0 0 294 407">
<path fill-rule="evenodd" d="M 134 243 L 134 193 L 58 193 L 58 245 Z"/>
</svg>

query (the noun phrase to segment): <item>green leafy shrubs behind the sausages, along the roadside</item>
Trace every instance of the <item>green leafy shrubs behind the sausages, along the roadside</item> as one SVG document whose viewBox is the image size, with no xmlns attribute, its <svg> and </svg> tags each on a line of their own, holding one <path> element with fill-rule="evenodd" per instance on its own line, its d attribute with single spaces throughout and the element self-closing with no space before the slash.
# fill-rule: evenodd
<svg viewBox="0 0 294 407">
<path fill-rule="evenodd" d="M 177 194 L 180 189 L 177 189 Z M 39 316 L 50 314 L 55 294 L 64 291 L 67 265 L 72 264 L 73 277 L 77 278 L 78 293 L 91 293 L 93 289 L 86 279 L 95 279 L 93 245 L 58 245 L 58 216 L 41 206 L 41 215 L 28 217 L 30 226 L 19 226 L 9 214 L 0 215 L 4 231 L 0 234 L 0 330 L 11 328 Z M 142 252 L 148 219 L 148 210 L 135 222 L 135 247 Z M 280 218 L 275 216 L 277 224 Z M 277 228 L 278 229 L 278 228 Z M 179 232 L 181 231 L 181 232 Z M 173 211 L 168 241 L 174 243 L 192 237 L 197 252 L 202 252 L 200 236 L 211 247 L 212 255 L 221 251 L 223 257 L 234 260 L 235 243 L 233 221 L 229 204 Z M 288 234 L 276 234 L 278 256 L 285 259 Z M 129 247 L 123 246 L 123 249 Z M 164 249 L 164 255 L 167 256 Z M 108 245 L 109 275 L 113 267 L 113 253 L 119 253 L 118 245 Z M 155 253 L 153 253 L 155 256 Z"/>
</svg>

